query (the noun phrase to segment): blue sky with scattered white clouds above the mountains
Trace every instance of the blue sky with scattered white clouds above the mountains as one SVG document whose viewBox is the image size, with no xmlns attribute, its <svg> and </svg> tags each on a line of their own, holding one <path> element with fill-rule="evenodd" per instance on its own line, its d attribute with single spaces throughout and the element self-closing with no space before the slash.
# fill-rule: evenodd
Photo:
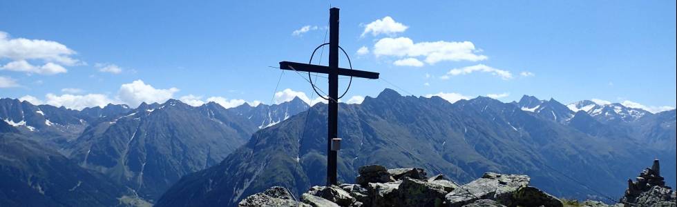
<svg viewBox="0 0 677 207">
<path fill-rule="evenodd" d="M 675 1 L 1 1 L 0 94 L 70 108 L 268 103 L 269 66 L 306 62 L 330 5 L 354 68 L 382 77 L 355 79 L 343 101 L 394 88 L 676 106 Z M 289 71 L 278 91 L 312 95 Z"/>
</svg>

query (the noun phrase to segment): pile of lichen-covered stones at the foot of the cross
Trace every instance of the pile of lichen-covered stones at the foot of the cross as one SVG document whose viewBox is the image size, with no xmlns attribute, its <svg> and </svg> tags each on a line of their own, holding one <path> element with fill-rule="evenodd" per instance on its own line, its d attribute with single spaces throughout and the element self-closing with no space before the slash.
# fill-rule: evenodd
<svg viewBox="0 0 677 207">
<path fill-rule="evenodd" d="M 563 206 L 562 201 L 528 186 L 526 175 L 485 173 L 458 186 L 421 168 L 386 169 L 362 166 L 356 184 L 313 186 L 294 200 L 287 190 L 273 187 L 251 195 L 239 206 Z"/>
</svg>

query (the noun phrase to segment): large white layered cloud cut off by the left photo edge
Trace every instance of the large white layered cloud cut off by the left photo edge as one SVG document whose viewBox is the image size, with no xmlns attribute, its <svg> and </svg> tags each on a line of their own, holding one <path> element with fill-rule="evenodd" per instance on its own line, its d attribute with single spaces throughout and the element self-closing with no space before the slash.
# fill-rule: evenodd
<svg viewBox="0 0 677 207">
<path fill-rule="evenodd" d="M 42 39 L 10 38 L 7 32 L 0 31 L 0 59 L 10 59 L 10 63 L 0 66 L 0 70 L 12 70 L 41 75 L 53 75 L 67 72 L 64 66 L 84 64 L 74 59 L 75 50 L 56 41 Z M 41 66 L 33 66 L 28 61 L 41 61 Z"/>
</svg>

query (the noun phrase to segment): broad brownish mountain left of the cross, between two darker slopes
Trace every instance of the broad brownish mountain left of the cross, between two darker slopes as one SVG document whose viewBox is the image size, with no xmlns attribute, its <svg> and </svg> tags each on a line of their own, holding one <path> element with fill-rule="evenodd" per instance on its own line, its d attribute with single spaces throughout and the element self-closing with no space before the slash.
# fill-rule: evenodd
<svg viewBox="0 0 677 207">
<path fill-rule="evenodd" d="M 70 147 L 70 158 L 152 200 L 181 176 L 218 164 L 254 130 L 216 103 L 142 103 L 87 128 Z"/>
</svg>

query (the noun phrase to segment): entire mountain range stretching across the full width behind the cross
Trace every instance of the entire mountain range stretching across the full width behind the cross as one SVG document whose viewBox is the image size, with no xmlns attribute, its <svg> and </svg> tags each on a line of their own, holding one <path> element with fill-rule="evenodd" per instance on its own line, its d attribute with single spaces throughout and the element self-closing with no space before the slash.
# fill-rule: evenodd
<svg viewBox="0 0 677 207">
<path fill-rule="evenodd" d="M 660 158 L 674 186 L 675 115 L 675 110 L 652 114 L 618 103 L 564 105 L 530 96 L 511 103 L 488 97 L 449 103 L 386 89 L 361 104 L 339 105 L 339 180 L 352 183 L 356 166 L 366 164 L 425 164 L 419 167 L 460 182 L 486 171 L 519 173 L 557 196 L 594 198 L 602 196 L 595 191 L 622 195 L 622 181 L 647 159 Z M 83 183 L 115 188 L 102 197 L 129 205 L 233 206 L 270 186 L 298 195 L 325 182 L 326 105 L 310 108 L 298 98 L 272 106 L 193 107 L 171 99 L 84 110 L 0 99 L 0 119 L 3 147 L 44 148 L 35 154 L 58 155 L 68 162 L 64 166 L 96 178 Z M 26 177 L 44 175 L 44 168 L 14 164 L 12 156 L 23 156 L 17 150 L 0 153 L 7 174 L 0 180 L 23 185 L 17 192 L 28 195 L 32 189 L 32 195 L 66 206 L 110 206 L 67 203 L 74 198 L 70 194 L 36 195 L 40 191 Z M 47 165 L 50 159 L 36 160 Z M 43 181 L 41 188 L 57 182 Z M 12 204 L 0 197 L 0 206 Z"/>
</svg>

